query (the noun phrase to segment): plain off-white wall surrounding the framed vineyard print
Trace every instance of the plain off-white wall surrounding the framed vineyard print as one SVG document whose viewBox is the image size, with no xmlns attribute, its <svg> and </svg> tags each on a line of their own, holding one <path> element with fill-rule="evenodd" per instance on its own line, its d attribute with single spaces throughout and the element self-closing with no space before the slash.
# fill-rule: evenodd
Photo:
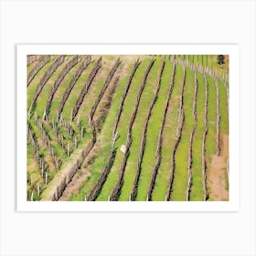
<svg viewBox="0 0 256 256">
<path fill-rule="evenodd" d="M 0 0 L 0 8 L 1 256 L 256 255 L 254 1 Z M 22 43 L 240 44 L 240 212 L 17 213 Z"/>
</svg>

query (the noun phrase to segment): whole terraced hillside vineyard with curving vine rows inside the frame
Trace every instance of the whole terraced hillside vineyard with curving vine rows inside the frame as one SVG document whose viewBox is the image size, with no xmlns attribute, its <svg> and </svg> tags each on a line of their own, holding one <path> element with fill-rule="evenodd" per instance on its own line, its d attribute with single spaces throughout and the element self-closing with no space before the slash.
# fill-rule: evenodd
<svg viewBox="0 0 256 256">
<path fill-rule="evenodd" d="M 27 200 L 229 200 L 229 57 L 27 56 Z"/>
</svg>

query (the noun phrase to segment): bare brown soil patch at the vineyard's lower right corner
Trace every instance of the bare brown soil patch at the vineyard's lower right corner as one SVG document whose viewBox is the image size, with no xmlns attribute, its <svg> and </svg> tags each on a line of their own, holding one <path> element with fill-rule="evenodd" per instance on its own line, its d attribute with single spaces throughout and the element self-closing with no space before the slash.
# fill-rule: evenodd
<svg viewBox="0 0 256 256">
<path fill-rule="evenodd" d="M 212 155 L 208 164 L 208 194 L 214 201 L 228 201 L 229 191 L 227 175 L 227 159 L 229 157 L 229 135 L 220 133 L 220 154 Z"/>
</svg>

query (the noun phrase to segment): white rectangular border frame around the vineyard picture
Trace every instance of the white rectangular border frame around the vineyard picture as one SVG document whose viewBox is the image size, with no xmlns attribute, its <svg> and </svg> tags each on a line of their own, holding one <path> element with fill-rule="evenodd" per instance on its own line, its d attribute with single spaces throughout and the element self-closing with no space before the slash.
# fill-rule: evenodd
<svg viewBox="0 0 256 256">
<path fill-rule="evenodd" d="M 239 211 L 240 48 L 238 45 L 17 45 L 17 211 Z M 224 202 L 30 202 L 27 201 L 28 54 L 227 54 L 229 55 L 229 201 Z"/>
</svg>

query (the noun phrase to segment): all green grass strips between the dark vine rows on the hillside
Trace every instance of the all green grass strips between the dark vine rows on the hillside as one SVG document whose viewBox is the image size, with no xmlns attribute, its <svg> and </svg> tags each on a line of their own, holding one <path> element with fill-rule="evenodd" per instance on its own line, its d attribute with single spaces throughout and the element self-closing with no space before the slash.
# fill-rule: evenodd
<svg viewBox="0 0 256 256">
<path fill-rule="evenodd" d="M 130 148 L 130 155 L 127 160 L 127 165 L 124 170 L 123 177 L 123 187 L 121 189 L 121 195 L 119 200 L 125 201 L 128 200 L 131 195 L 134 177 L 136 174 L 136 167 L 138 161 L 138 155 L 140 152 L 140 144 L 142 140 L 142 132 L 144 130 L 144 123 L 146 116 L 149 111 L 149 106 L 154 96 L 155 87 L 157 85 L 157 80 L 159 77 L 159 71 L 162 64 L 162 59 L 165 57 L 165 69 L 162 75 L 162 82 L 160 91 L 158 93 L 157 100 L 155 101 L 155 105 L 153 108 L 153 112 L 148 123 L 148 128 L 146 131 L 146 144 L 144 150 L 144 157 L 142 162 L 141 176 L 138 183 L 138 193 L 136 200 L 142 201 L 146 199 L 148 187 L 150 184 L 150 180 L 152 178 L 154 165 L 155 165 L 155 150 L 158 140 L 158 134 L 161 127 L 161 122 L 163 118 L 163 112 L 165 109 L 165 101 L 167 97 L 167 92 L 169 90 L 171 74 L 173 64 L 169 61 L 170 56 L 140 56 L 142 59 L 142 63 L 139 68 L 136 70 L 135 75 L 133 77 L 133 82 L 131 84 L 130 90 L 127 94 L 127 98 L 123 104 L 123 112 L 121 114 L 121 119 L 117 127 L 117 132 L 120 137 L 115 142 L 114 146 L 117 149 L 117 153 L 112 165 L 112 169 L 107 176 L 106 182 L 104 183 L 101 193 L 97 200 L 105 201 L 108 200 L 108 197 L 112 194 L 112 189 L 116 185 L 117 179 L 119 177 L 120 167 L 123 163 L 123 153 L 120 148 L 121 145 L 125 144 L 128 132 L 128 125 L 130 123 L 130 119 L 133 113 L 134 101 L 137 97 L 140 85 L 144 79 L 144 72 L 148 67 L 151 58 L 155 59 L 155 64 L 151 69 L 148 79 L 141 97 L 141 101 L 138 107 L 138 112 L 136 114 L 133 128 L 132 128 L 132 139 L 133 143 Z M 37 84 L 39 80 L 43 77 L 44 73 L 56 59 L 56 56 L 52 56 L 51 60 L 37 73 L 34 80 L 31 81 L 31 84 L 27 88 L 27 109 L 30 106 L 33 95 L 35 95 L 37 90 Z M 54 81 L 58 78 L 59 73 L 69 61 L 70 56 L 67 56 L 65 62 L 62 63 L 59 68 L 51 75 L 48 82 L 44 86 L 43 90 L 38 96 L 37 104 L 36 104 L 36 112 L 37 116 L 40 118 L 43 115 L 45 110 L 48 94 L 51 90 Z M 100 56 L 93 56 L 92 59 L 98 59 Z M 88 177 L 83 181 L 83 185 L 80 191 L 76 192 L 73 196 L 69 198 L 69 200 L 84 200 L 84 196 L 88 195 L 91 191 L 91 188 L 94 186 L 98 177 L 101 176 L 101 173 L 107 164 L 109 155 L 111 153 L 111 144 L 112 144 L 112 127 L 116 119 L 116 114 L 118 112 L 119 104 L 122 99 L 123 90 L 125 88 L 126 82 L 128 80 L 128 76 L 130 75 L 133 65 L 138 56 L 129 57 L 129 64 L 123 61 L 123 57 L 121 56 L 122 63 L 115 74 L 115 78 L 120 76 L 120 80 L 117 83 L 115 92 L 112 95 L 112 101 L 110 105 L 110 109 L 106 115 L 103 116 L 101 120 L 101 131 L 97 132 L 97 142 L 93 149 L 93 154 L 88 158 L 91 159 L 89 163 L 82 163 L 83 168 L 86 168 Z M 219 73 L 227 72 L 229 66 L 229 60 L 227 59 L 224 65 L 219 66 L 216 62 L 217 56 L 207 56 L 207 55 L 176 55 L 176 59 L 189 60 L 190 63 L 199 64 L 204 67 L 209 67 L 211 69 L 217 69 Z M 69 144 L 70 153 L 72 153 L 72 157 L 69 158 L 65 151 L 62 149 L 61 145 L 58 142 L 56 134 L 53 132 L 51 125 L 49 124 L 52 120 L 56 121 L 57 111 L 59 109 L 60 101 L 64 95 L 64 92 L 69 86 L 70 80 L 74 76 L 75 72 L 79 69 L 81 62 L 75 65 L 72 69 L 69 70 L 69 73 L 65 77 L 63 81 L 61 81 L 58 90 L 54 96 L 52 104 L 50 106 L 49 114 L 48 114 L 48 122 L 44 123 L 44 127 L 46 132 L 48 133 L 48 137 L 50 138 L 51 145 L 53 146 L 54 152 L 57 155 L 58 159 L 63 162 L 63 165 L 69 164 L 69 161 L 73 161 L 78 154 L 79 150 L 84 148 L 88 141 L 91 139 L 91 128 L 88 125 L 88 114 L 91 111 L 91 107 L 94 102 L 97 100 L 99 93 L 101 91 L 102 85 L 106 80 L 110 70 L 112 69 L 112 65 L 117 59 L 116 56 L 103 56 L 102 64 L 103 67 L 98 71 L 95 79 L 91 83 L 91 88 L 85 95 L 81 105 L 80 110 L 73 122 L 70 122 L 70 112 L 74 108 L 78 97 L 80 96 L 80 91 L 83 88 L 84 83 L 88 79 L 91 70 L 95 65 L 95 61 L 92 62 L 81 74 L 79 80 L 74 85 L 74 88 L 69 94 L 68 101 L 66 102 L 63 109 L 63 116 L 66 118 L 67 122 L 72 126 L 75 130 L 75 133 L 78 138 L 78 149 L 75 148 L 74 143 L 69 137 L 68 131 L 64 126 L 59 124 L 59 133 L 64 136 L 65 144 Z M 32 69 L 32 66 L 35 64 L 31 64 L 27 66 L 27 71 Z M 184 113 L 185 113 L 185 123 L 183 127 L 183 133 L 181 137 L 181 141 L 178 144 L 176 150 L 176 169 L 174 174 L 174 183 L 173 189 L 171 192 L 171 200 L 182 201 L 186 200 L 186 192 L 187 192 L 187 155 L 189 150 L 189 139 L 190 134 L 194 127 L 194 118 L 192 113 L 193 107 L 193 98 L 194 98 L 194 73 L 187 69 L 187 78 L 186 85 L 184 91 Z M 204 126 L 204 106 L 205 106 L 205 83 L 203 76 L 197 72 L 197 80 L 198 80 L 198 89 L 197 89 L 197 128 L 194 136 L 193 144 L 192 144 L 192 187 L 190 193 L 190 200 L 192 201 L 201 201 L 204 197 L 203 191 L 203 180 L 202 180 L 202 140 L 203 134 L 205 131 Z M 216 144 L 216 122 L 217 122 L 217 91 L 216 86 L 212 78 L 207 75 L 208 80 L 208 134 L 206 138 L 206 160 L 207 160 L 207 177 L 208 171 L 210 167 L 210 163 L 212 161 L 212 156 L 216 154 L 217 144 Z M 164 201 L 165 196 L 169 187 L 170 176 L 171 176 L 171 163 L 172 163 L 172 152 L 174 149 L 174 145 L 176 143 L 176 126 L 178 122 L 178 108 L 180 101 L 180 93 L 181 86 L 183 81 L 183 70 L 182 67 L 176 65 L 176 76 L 175 83 L 172 95 L 170 97 L 169 106 L 167 110 L 165 127 L 163 130 L 163 144 L 162 144 L 162 152 L 161 152 L 161 165 L 159 166 L 157 176 L 155 178 L 155 187 L 152 194 L 152 199 L 154 201 Z M 113 80 L 112 80 L 113 82 Z M 228 99 L 227 99 L 227 90 L 223 85 L 221 80 L 218 80 L 219 86 L 219 111 L 220 111 L 220 144 L 222 142 L 222 136 L 229 134 L 229 112 L 228 112 Z M 229 84 L 226 86 L 229 87 Z M 112 84 L 110 84 L 110 88 Z M 103 99 L 101 100 L 94 117 L 101 118 L 102 116 L 102 107 L 104 106 L 107 97 L 110 93 L 110 88 L 107 89 L 104 94 Z M 84 128 L 84 136 L 83 139 L 80 140 L 80 128 L 77 127 L 77 120 L 80 118 L 80 126 Z M 53 179 L 55 176 L 59 176 L 61 172 L 56 170 L 52 156 L 47 148 L 47 146 L 42 142 L 41 133 L 37 127 L 37 123 L 34 120 L 34 116 L 32 115 L 31 119 L 28 121 L 31 124 L 31 130 L 36 135 L 37 144 L 39 147 L 39 154 L 47 161 L 49 165 L 48 172 L 48 180 Z M 224 162 L 227 161 L 226 155 L 224 157 Z M 63 167 L 64 168 L 64 167 Z M 225 170 L 224 170 L 225 171 Z M 81 172 L 78 172 L 81 174 Z M 30 200 L 32 187 L 30 184 L 30 177 L 32 175 L 33 186 L 34 183 L 37 185 L 37 182 L 40 183 L 41 192 L 46 188 L 44 185 L 44 178 L 40 176 L 40 170 L 38 169 L 37 162 L 35 160 L 35 155 L 33 155 L 32 147 L 30 143 L 27 143 L 27 200 Z M 229 188 L 228 182 L 226 182 L 226 188 Z M 208 185 L 209 186 L 209 185 Z M 210 187 L 208 187 L 210 188 Z M 34 200 L 40 199 L 41 196 L 37 196 L 37 186 L 33 188 Z M 213 200 L 213 198 L 209 198 L 209 200 Z"/>
</svg>

